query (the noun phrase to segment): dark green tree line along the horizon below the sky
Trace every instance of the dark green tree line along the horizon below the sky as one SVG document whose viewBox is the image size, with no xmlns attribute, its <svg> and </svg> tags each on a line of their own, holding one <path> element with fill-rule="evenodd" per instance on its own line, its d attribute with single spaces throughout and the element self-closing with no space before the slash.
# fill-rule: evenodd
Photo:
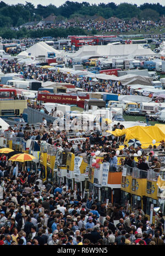
<svg viewBox="0 0 165 256">
<path fill-rule="evenodd" d="M 74 15 L 93 15 L 102 16 L 105 19 L 117 17 L 120 19 L 131 19 L 133 17 L 139 19 L 159 20 L 165 15 L 165 6 L 160 3 L 150 4 L 144 3 L 139 7 L 136 4 L 120 3 L 100 3 L 90 4 L 88 2 L 78 3 L 73 1 L 66 1 L 62 6 L 56 7 L 53 4 L 42 6 L 38 4 L 37 7 L 30 2 L 26 4 L 9 5 L 0 2 L 0 28 L 2 27 L 19 27 L 26 22 L 40 21 L 49 15 L 54 14 L 57 20 L 74 17 Z"/>
</svg>

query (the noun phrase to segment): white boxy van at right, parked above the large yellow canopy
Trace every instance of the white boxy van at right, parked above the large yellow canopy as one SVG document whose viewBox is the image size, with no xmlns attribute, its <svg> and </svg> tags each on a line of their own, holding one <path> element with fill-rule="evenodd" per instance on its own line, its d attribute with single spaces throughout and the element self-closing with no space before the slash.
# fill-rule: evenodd
<svg viewBox="0 0 165 256">
<path fill-rule="evenodd" d="M 159 103 L 140 102 L 139 110 L 141 115 L 155 114 L 158 111 Z"/>
</svg>

